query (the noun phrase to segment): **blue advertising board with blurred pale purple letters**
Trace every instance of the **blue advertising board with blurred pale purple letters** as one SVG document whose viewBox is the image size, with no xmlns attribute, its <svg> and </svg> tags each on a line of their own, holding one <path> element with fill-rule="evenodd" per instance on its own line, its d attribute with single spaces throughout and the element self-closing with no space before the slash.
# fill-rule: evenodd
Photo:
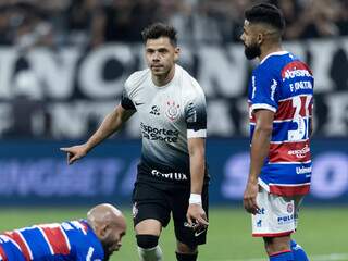
<svg viewBox="0 0 348 261">
<path fill-rule="evenodd" d="M 306 202 L 348 203 L 348 140 L 312 144 L 312 187 Z M 67 165 L 65 154 L 59 151 L 66 145 L 1 141 L 1 204 L 129 203 L 139 140 L 110 140 L 73 165 Z M 211 139 L 207 153 L 211 203 L 240 207 L 249 169 L 248 141 Z"/>
</svg>

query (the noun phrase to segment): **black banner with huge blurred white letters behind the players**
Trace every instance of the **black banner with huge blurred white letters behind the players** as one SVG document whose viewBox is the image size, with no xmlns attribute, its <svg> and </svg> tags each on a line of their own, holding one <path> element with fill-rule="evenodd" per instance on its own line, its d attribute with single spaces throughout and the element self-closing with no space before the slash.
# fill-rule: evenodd
<svg viewBox="0 0 348 261">
<path fill-rule="evenodd" d="M 210 136 L 247 137 L 246 92 L 253 64 L 244 47 L 182 49 L 181 63 L 207 95 Z M 316 135 L 347 137 L 348 38 L 290 42 L 286 49 L 313 70 Z M 146 67 L 142 57 L 142 45 L 107 45 L 88 52 L 0 48 L 0 138 L 85 138 L 120 102 L 125 79 Z M 136 120 L 123 136 L 139 137 Z"/>
</svg>

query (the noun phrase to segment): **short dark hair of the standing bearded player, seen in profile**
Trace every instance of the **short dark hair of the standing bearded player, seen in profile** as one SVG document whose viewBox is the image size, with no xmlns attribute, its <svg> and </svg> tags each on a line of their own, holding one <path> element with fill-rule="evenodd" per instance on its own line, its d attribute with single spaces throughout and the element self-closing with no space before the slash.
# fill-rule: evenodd
<svg viewBox="0 0 348 261">
<path fill-rule="evenodd" d="M 282 11 L 271 3 L 260 3 L 246 10 L 245 17 L 250 23 L 265 23 L 282 33 L 285 28 L 285 20 Z"/>
</svg>

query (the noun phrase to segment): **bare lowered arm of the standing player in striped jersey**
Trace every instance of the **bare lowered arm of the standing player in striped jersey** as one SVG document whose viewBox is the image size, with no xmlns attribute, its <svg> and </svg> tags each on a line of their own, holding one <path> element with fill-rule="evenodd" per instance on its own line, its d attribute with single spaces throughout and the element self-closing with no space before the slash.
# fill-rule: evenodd
<svg viewBox="0 0 348 261">
<path fill-rule="evenodd" d="M 257 110 L 256 126 L 251 140 L 250 171 L 247 187 L 244 192 L 244 207 L 252 214 L 259 210 L 257 195 L 259 191 L 258 177 L 263 166 L 264 159 L 269 154 L 270 140 L 273 130 L 274 112 Z"/>
</svg>

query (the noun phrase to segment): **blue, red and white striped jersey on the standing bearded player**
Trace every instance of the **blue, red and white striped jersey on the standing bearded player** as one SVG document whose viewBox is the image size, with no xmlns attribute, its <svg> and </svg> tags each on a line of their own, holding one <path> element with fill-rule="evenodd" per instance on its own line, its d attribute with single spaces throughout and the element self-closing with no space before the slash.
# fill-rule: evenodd
<svg viewBox="0 0 348 261">
<path fill-rule="evenodd" d="M 265 109 L 275 113 L 270 151 L 259 176 L 259 184 L 271 194 L 309 192 L 313 85 L 308 65 L 286 51 L 271 53 L 252 72 L 248 89 L 251 139 L 253 111 Z"/>
</svg>

